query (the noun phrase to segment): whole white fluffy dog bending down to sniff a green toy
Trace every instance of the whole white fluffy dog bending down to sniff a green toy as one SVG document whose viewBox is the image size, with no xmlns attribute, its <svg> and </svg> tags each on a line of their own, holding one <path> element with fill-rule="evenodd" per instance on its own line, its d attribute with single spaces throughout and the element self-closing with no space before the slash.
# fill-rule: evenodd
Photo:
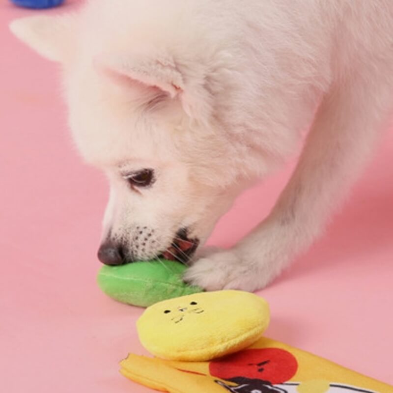
<svg viewBox="0 0 393 393">
<path fill-rule="evenodd" d="M 90 0 L 14 21 L 61 63 L 70 125 L 111 183 L 99 258 L 186 261 L 290 157 L 269 217 L 185 280 L 253 291 L 321 232 L 393 108 L 392 0 Z"/>
</svg>

